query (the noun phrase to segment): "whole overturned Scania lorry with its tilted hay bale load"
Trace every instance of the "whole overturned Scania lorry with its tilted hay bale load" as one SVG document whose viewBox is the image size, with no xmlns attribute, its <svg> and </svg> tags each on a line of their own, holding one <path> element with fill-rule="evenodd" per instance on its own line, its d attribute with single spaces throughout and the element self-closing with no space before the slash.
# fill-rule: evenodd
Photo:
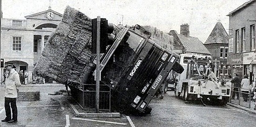
<svg viewBox="0 0 256 127">
<path fill-rule="evenodd" d="M 73 17 L 67 19 L 70 15 Z M 82 20 L 87 24 L 79 22 Z M 76 94 L 78 89 L 95 90 L 86 85 L 95 84 L 90 32 L 90 19 L 67 7 L 35 67 L 36 73 L 43 77 L 68 85 L 76 99 L 81 99 Z M 133 29 L 124 27 L 101 56 L 101 84 L 111 89 L 111 106 L 117 111 L 150 113 L 148 104 L 168 73 L 172 69 L 177 73 L 184 70 L 177 62 L 179 55 L 160 47 L 149 39 L 150 35 L 139 25 Z M 62 48 L 54 49 L 56 44 Z M 100 88 L 104 91 L 104 87 Z"/>
</svg>

